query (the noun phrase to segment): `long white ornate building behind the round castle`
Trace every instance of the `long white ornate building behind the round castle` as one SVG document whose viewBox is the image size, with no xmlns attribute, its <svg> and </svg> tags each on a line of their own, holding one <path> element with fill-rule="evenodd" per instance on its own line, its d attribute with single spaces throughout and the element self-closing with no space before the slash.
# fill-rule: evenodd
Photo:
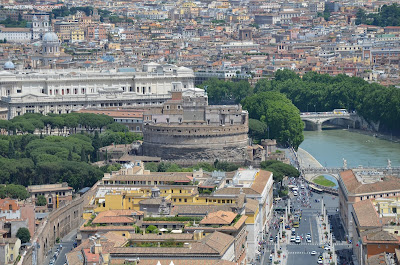
<svg viewBox="0 0 400 265">
<path fill-rule="evenodd" d="M 171 97 L 174 86 L 194 88 L 193 70 L 186 67 L 148 63 L 141 72 L 126 70 L 2 71 L 1 106 L 12 119 L 25 113 L 157 105 Z"/>
</svg>

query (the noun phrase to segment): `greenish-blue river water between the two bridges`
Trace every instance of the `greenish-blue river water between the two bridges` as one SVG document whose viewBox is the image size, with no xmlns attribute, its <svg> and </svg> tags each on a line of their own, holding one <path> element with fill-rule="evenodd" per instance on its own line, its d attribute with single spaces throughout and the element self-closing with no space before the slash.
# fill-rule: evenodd
<svg viewBox="0 0 400 265">
<path fill-rule="evenodd" d="M 342 167 L 343 158 L 349 168 L 362 166 L 400 166 L 400 143 L 347 130 L 304 131 L 301 148 L 324 167 Z"/>
</svg>

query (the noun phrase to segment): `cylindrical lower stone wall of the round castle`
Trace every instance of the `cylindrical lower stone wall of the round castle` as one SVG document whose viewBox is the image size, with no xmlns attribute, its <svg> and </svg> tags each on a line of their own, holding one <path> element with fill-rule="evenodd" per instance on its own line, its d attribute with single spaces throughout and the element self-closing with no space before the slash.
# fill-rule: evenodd
<svg viewBox="0 0 400 265">
<path fill-rule="evenodd" d="M 216 159 L 242 162 L 247 158 L 247 125 L 148 125 L 143 132 L 144 155 L 167 160 Z"/>
</svg>

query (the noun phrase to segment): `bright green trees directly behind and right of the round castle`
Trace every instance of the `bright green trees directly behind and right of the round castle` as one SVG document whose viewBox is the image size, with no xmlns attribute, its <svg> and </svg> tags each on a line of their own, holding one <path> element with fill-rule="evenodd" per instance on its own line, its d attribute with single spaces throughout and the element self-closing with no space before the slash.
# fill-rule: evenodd
<svg viewBox="0 0 400 265">
<path fill-rule="evenodd" d="M 263 81 L 264 82 L 264 81 Z M 249 112 L 249 133 L 256 142 L 277 139 L 297 148 L 303 141 L 303 123 L 299 110 L 285 95 L 255 91 L 247 81 L 231 82 L 210 79 L 202 84 L 211 104 L 240 103 Z"/>
</svg>

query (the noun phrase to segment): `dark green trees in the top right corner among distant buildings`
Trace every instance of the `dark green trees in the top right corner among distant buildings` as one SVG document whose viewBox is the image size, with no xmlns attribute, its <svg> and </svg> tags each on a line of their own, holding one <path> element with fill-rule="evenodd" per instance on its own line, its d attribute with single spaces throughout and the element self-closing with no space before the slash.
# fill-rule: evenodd
<svg viewBox="0 0 400 265">
<path fill-rule="evenodd" d="M 367 24 L 379 27 L 400 26 L 400 6 L 397 3 L 383 5 L 377 13 L 367 14 L 363 9 L 358 9 L 356 24 Z"/>
</svg>

